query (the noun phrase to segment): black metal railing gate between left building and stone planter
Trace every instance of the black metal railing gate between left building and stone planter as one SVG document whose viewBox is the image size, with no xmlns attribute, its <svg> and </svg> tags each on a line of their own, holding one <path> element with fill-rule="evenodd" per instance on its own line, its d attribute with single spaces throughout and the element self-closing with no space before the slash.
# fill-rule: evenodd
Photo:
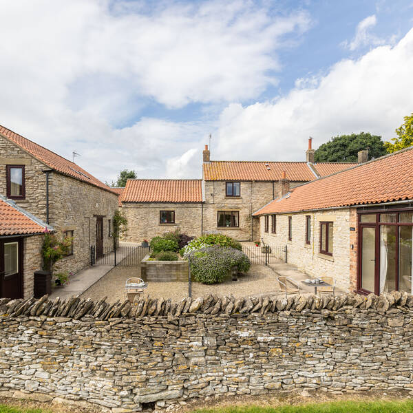
<svg viewBox="0 0 413 413">
<path fill-rule="evenodd" d="M 96 246 L 92 245 L 90 247 L 90 265 L 138 266 L 148 253 L 148 246 L 120 244 L 116 247 L 103 248 L 103 255 L 98 257 Z"/>
</svg>

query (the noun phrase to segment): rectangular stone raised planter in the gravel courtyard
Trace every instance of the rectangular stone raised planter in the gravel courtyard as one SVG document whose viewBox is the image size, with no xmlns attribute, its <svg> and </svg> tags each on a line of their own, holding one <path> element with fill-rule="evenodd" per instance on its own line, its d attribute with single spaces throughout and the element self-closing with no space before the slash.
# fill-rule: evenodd
<svg viewBox="0 0 413 413">
<path fill-rule="evenodd" d="M 149 254 L 140 262 L 140 277 L 146 282 L 188 282 L 187 261 L 149 261 L 148 259 Z"/>
</svg>

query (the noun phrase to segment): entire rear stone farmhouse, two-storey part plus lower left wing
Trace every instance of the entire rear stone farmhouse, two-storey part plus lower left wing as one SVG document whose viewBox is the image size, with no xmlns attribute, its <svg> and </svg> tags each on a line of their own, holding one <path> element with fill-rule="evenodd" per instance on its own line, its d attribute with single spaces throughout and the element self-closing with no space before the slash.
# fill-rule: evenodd
<svg viewBox="0 0 413 413">
<path fill-rule="evenodd" d="M 306 162 L 213 161 L 202 153 L 202 180 L 128 180 L 120 203 L 128 219 L 125 240 L 142 242 L 179 229 L 199 236 L 223 233 L 236 240 L 260 237 L 253 212 L 297 185 L 352 167 L 314 162 L 308 140 Z"/>
</svg>

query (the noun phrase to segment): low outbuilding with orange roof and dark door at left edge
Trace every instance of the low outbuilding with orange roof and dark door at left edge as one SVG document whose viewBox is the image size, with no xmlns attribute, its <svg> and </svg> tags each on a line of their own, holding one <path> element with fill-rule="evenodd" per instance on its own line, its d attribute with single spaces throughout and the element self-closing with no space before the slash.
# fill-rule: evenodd
<svg viewBox="0 0 413 413">
<path fill-rule="evenodd" d="M 30 298 L 41 244 L 52 226 L 0 195 L 0 297 Z"/>
</svg>

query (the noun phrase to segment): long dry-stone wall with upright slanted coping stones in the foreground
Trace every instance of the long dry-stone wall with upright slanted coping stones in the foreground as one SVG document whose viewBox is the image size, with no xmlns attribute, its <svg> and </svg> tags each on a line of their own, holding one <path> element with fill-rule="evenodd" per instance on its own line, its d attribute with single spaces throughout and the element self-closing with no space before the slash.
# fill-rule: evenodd
<svg viewBox="0 0 413 413">
<path fill-rule="evenodd" d="M 114 412 L 213 395 L 412 390 L 412 308 L 407 293 L 0 299 L 0 390 Z"/>
</svg>

